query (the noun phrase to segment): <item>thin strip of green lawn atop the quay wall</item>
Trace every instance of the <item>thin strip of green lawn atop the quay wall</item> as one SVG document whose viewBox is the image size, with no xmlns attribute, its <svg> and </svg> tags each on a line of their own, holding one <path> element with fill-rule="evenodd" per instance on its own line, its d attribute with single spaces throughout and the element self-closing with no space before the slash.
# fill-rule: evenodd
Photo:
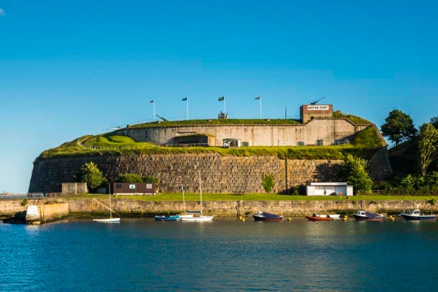
<svg viewBox="0 0 438 292">
<path fill-rule="evenodd" d="M 107 199 L 108 195 L 102 194 L 83 194 L 70 196 L 70 199 Z M 159 194 L 159 195 L 115 195 L 115 200 L 141 200 L 150 202 L 166 202 L 166 201 L 182 201 L 182 194 Z M 203 194 L 203 201 L 339 201 L 339 200 L 353 200 L 353 201 L 384 201 L 384 200 L 405 200 L 405 201 L 418 201 L 418 200 L 431 200 L 431 196 L 390 196 L 390 195 L 355 195 L 350 196 L 348 199 L 339 196 L 307 196 L 307 195 L 275 195 L 275 194 Z M 199 201 L 200 195 L 197 193 L 189 193 L 184 195 L 184 200 Z"/>
</svg>

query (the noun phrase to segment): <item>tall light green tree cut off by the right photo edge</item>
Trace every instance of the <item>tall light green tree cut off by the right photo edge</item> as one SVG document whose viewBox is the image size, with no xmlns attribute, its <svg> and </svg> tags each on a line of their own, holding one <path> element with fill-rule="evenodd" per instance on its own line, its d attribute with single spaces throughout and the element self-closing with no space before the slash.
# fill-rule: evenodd
<svg viewBox="0 0 438 292">
<path fill-rule="evenodd" d="M 438 129 L 431 123 L 422 124 L 419 132 L 419 166 L 425 177 L 430 163 L 438 158 Z"/>
</svg>

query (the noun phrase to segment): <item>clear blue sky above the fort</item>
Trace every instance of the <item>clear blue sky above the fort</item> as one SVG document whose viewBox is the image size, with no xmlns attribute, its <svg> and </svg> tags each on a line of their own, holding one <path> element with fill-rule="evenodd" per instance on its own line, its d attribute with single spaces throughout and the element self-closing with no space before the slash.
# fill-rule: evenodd
<svg viewBox="0 0 438 292">
<path fill-rule="evenodd" d="M 44 149 L 156 114 L 299 115 L 380 127 L 438 115 L 437 1 L 0 0 L 0 192 Z"/>
</svg>

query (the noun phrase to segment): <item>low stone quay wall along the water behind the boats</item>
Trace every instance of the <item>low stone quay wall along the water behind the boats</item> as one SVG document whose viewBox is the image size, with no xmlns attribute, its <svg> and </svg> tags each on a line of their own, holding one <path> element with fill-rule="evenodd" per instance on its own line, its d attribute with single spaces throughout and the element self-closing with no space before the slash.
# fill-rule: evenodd
<svg viewBox="0 0 438 292">
<path fill-rule="evenodd" d="M 109 205 L 108 199 L 99 199 L 102 204 Z M 0 215 L 12 216 L 17 212 L 27 209 L 21 206 L 20 200 L 0 200 Z M 50 204 L 47 204 L 50 202 Z M 46 220 L 67 216 L 74 216 L 75 213 L 93 214 L 107 212 L 99 205 L 93 204 L 91 199 L 77 200 L 35 200 L 29 204 L 44 206 L 41 214 L 45 214 Z M 416 206 L 424 211 L 432 209 L 432 205 L 427 200 L 405 201 L 405 200 L 334 200 L 334 201 L 204 201 L 203 210 L 205 214 L 218 217 L 248 216 L 259 210 L 269 213 L 279 213 L 284 216 L 305 216 L 309 213 L 355 213 L 362 206 L 362 209 L 378 213 L 401 213 L 407 209 L 414 209 Z M 183 202 L 145 202 L 133 199 L 123 199 L 115 197 L 111 200 L 114 211 L 120 213 L 122 217 L 150 217 L 156 213 L 181 213 L 184 210 Z M 186 202 L 186 210 L 199 210 L 200 202 Z"/>
</svg>

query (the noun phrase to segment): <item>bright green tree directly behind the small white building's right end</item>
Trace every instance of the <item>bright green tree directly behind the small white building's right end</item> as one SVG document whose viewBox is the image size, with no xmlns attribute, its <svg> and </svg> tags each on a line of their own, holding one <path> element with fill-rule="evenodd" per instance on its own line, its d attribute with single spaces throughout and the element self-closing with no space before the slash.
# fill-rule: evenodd
<svg viewBox="0 0 438 292">
<path fill-rule="evenodd" d="M 355 192 L 357 190 L 371 190 L 373 186 L 373 180 L 366 172 L 366 161 L 355 159 L 352 155 L 348 155 L 339 165 L 338 179 L 353 186 Z"/>
</svg>

